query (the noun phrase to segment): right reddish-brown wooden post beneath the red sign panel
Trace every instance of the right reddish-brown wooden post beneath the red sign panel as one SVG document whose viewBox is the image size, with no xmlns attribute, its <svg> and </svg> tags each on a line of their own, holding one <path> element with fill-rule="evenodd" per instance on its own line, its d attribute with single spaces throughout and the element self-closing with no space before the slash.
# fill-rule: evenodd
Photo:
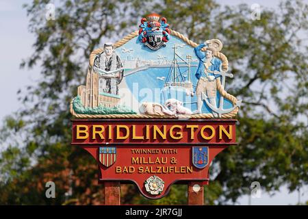
<svg viewBox="0 0 308 219">
<path fill-rule="evenodd" d="M 188 183 L 188 205 L 203 205 L 202 182 L 191 181 Z"/>
</svg>

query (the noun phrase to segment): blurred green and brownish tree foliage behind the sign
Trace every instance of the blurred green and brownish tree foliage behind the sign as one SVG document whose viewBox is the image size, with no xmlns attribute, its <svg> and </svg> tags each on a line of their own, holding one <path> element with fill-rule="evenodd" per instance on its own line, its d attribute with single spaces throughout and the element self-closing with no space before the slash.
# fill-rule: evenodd
<svg viewBox="0 0 308 219">
<path fill-rule="evenodd" d="M 84 84 L 90 52 L 138 29 L 148 12 L 162 14 L 171 29 L 194 42 L 222 40 L 235 75 L 227 90 L 243 99 L 239 144 L 214 160 L 205 202 L 236 202 L 250 193 L 253 181 L 270 192 L 307 185 L 308 6 L 303 1 L 283 1 L 279 10 L 261 8 L 259 20 L 251 18 L 249 5 L 222 8 L 211 0 L 66 0 L 57 2 L 55 20 L 47 21 L 42 14 L 47 3 L 25 5 L 36 42 L 21 66 L 39 65 L 41 79 L 20 94 L 23 110 L 1 129 L 0 203 L 102 203 L 94 159 L 70 146 L 68 105 Z M 55 182 L 56 198 L 44 196 L 47 181 Z M 73 193 L 65 196 L 70 187 Z M 123 203 L 186 203 L 186 185 L 173 185 L 159 201 L 142 198 L 134 185 L 121 187 Z"/>
</svg>

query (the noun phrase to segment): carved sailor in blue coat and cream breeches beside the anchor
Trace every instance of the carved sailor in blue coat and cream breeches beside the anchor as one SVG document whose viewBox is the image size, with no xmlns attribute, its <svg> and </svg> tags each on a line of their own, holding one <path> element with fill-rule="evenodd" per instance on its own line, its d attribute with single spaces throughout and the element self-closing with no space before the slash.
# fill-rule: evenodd
<svg viewBox="0 0 308 219">
<path fill-rule="evenodd" d="M 214 57 L 213 52 L 216 49 L 209 47 L 208 44 L 209 40 L 201 43 L 194 49 L 199 65 L 195 74 L 198 79 L 196 86 L 197 110 L 193 114 L 201 114 L 203 105 L 202 93 L 205 93 L 209 103 L 216 107 L 216 78 L 220 77 L 220 75 L 216 75 L 214 71 L 220 71 L 220 64 L 222 62 L 217 57 Z M 205 52 L 201 51 L 203 47 L 207 47 Z"/>
</svg>

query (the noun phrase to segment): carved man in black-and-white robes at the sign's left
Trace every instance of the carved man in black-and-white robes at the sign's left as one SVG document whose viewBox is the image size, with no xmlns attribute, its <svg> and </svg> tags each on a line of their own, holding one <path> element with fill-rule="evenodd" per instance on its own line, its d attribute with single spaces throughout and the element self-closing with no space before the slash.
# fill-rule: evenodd
<svg viewBox="0 0 308 219">
<path fill-rule="evenodd" d="M 94 70 L 99 73 L 99 93 L 118 95 L 118 84 L 123 79 L 123 64 L 112 42 L 104 44 L 104 51 L 95 57 Z"/>
</svg>

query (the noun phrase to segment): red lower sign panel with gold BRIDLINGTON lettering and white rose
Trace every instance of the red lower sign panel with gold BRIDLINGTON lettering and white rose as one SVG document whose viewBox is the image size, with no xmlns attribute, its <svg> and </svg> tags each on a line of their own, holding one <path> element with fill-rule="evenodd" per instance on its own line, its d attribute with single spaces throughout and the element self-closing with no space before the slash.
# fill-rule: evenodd
<svg viewBox="0 0 308 219">
<path fill-rule="evenodd" d="M 173 183 L 208 183 L 209 165 L 235 143 L 236 120 L 73 120 L 72 144 L 99 164 L 100 181 L 133 181 L 147 198 Z"/>
</svg>

